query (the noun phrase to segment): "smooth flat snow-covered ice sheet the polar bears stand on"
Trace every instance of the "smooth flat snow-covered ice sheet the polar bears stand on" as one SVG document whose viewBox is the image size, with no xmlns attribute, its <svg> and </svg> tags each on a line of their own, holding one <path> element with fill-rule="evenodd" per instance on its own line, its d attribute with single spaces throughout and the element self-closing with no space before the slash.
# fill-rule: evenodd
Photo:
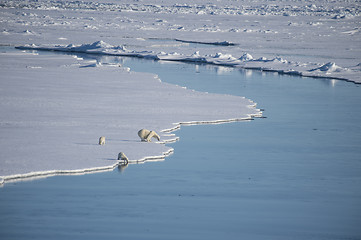
<svg viewBox="0 0 361 240">
<path fill-rule="evenodd" d="M 155 130 L 177 137 L 180 123 L 260 116 L 245 98 L 195 92 L 149 73 L 99 65 L 71 55 L 0 53 L 0 178 L 112 169 L 119 152 L 133 162 L 162 159 L 173 149 L 141 142 Z M 106 144 L 98 145 L 100 136 Z"/>
</svg>

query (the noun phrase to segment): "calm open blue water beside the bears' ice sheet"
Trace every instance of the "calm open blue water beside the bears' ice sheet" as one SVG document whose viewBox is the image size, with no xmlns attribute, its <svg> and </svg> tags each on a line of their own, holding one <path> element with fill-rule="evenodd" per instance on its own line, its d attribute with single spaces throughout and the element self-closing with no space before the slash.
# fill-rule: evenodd
<svg viewBox="0 0 361 240">
<path fill-rule="evenodd" d="M 183 126 L 164 162 L 0 189 L 1 239 L 361 239 L 361 91 L 342 81 L 120 61 L 246 96 L 267 118 Z"/>
</svg>

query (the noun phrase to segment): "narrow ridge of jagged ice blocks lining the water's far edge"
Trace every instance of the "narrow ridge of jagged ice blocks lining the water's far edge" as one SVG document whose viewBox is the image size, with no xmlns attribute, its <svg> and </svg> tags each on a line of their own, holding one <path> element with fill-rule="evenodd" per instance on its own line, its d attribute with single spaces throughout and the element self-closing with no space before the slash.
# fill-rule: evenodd
<svg viewBox="0 0 361 240">
<path fill-rule="evenodd" d="M 136 51 L 128 50 L 124 46 L 113 46 L 104 41 L 96 41 L 91 44 L 67 46 L 54 45 L 54 46 L 38 46 L 35 44 L 18 46 L 18 49 L 24 50 L 47 50 L 47 51 L 63 51 L 63 52 L 78 52 L 90 54 L 104 54 L 113 56 L 129 56 L 138 58 L 148 58 L 153 60 L 163 61 L 181 61 L 181 62 L 194 62 L 205 63 L 222 66 L 232 66 L 244 69 L 258 69 L 264 71 L 274 71 L 282 74 L 310 76 L 310 77 L 327 77 L 335 79 L 343 79 L 349 81 L 359 82 L 357 76 L 361 72 L 354 69 L 347 69 L 337 66 L 335 63 L 327 63 L 322 66 L 315 67 L 315 64 L 305 64 L 299 62 L 288 61 L 281 57 L 266 58 L 260 57 L 254 59 L 249 53 L 244 53 L 240 57 L 234 57 L 229 53 L 215 53 L 211 55 L 201 55 L 199 51 L 191 55 L 184 55 L 178 52 L 154 52 L 154 51 Z M 94 65 L 95 67 L 96 65 Z"/>
</svg>

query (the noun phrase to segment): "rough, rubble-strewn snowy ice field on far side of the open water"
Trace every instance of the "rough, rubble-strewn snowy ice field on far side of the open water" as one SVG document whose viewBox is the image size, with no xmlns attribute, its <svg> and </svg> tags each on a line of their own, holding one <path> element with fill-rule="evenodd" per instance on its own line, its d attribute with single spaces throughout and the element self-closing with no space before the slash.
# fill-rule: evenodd
<svg viewBox="0 0 361 240">
<path fill-rule="evenodd" d="M 103 40 L 150 57 L 193 55 L 192 60 L 360 83 L 360 9 L 357 0 L 2 1 L 0 43 Z M 244 54 L 253 59 L 233 61 Z"/>
</svg>

